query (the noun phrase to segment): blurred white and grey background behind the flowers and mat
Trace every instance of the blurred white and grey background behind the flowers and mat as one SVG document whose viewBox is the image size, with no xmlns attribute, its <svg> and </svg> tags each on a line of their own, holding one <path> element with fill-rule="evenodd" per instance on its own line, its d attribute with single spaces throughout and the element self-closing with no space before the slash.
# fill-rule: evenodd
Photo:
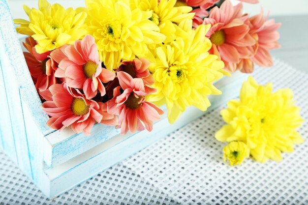
<svg viewBox="0 0 308 205">
<path fill-rule="evenodd" d="M 232 0 L 234 3 L 239 1 Z M 38 7 L 37 0 L 8 0 L 13 18 L 28 19 L 22 5 Z M 64 7 L 84 6 L 84 0 L 49 0 L 50 3 L 61 3 Z M 281 22 L 281 48 L 273 50 L 274 58 L 281 59 L 287 64 L 308 73 L 306 59 L 308 58 L 308 0 L 259 0 L 258 4 L 244 4 L 244 11 L 249 15 L 260 13 L 261 8 L 269 18 Z"/>
</svg>

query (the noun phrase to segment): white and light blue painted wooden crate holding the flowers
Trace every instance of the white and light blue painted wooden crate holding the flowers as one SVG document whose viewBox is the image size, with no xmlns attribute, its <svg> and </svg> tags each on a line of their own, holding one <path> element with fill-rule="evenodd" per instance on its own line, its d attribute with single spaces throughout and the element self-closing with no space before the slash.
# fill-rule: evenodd
<svg viewBox="0 0 308 205">
<path fill-rule="evenodd" d="M 236 96 L 245 79 L 236 73 L 216 82 L 223 94 L 210 96 L 208 111 Z M 191 107 L 175 124 L 170 125 L 164 115 L 151 133 L 133 135 L 96 124 L 92 136 L 85 136 L 48 127 L 41 105 L 9 6 L 0 0 L 0 148 L 47 197 L 60 195 L 205 114 Z"/>
</svg>

